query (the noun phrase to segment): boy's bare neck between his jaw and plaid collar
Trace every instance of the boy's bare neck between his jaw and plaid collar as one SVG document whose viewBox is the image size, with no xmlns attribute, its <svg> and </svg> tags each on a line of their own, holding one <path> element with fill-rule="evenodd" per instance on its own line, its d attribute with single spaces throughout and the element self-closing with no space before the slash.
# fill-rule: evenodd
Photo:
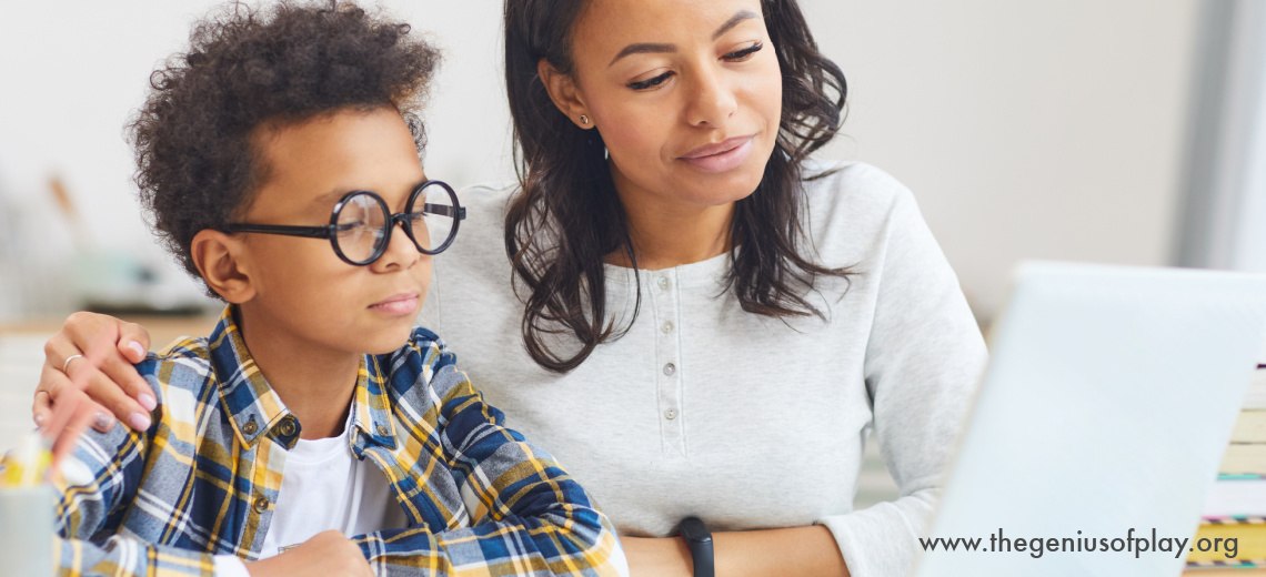
<svg viewBox="0 0 1266 577">
<path fill-rule="evenodd" d="M 238 329 L 268 386 L 303 425 L 303 439 L 342 433 L 363 354 L 327 351 L 296 338 L 251 304 L 238 306 Z"/>
</svg>

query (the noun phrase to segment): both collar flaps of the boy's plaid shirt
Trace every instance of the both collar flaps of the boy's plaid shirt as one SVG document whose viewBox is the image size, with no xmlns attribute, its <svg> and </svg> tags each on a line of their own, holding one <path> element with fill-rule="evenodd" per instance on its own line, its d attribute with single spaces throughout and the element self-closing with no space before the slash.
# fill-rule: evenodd
<svg viewBox="0 0 1266 577">
<path fill-rule="evenodd" d="M 299 423 L 281 397 L 268 386 L 268 381 L 251 357 L 234 318 L 234 310 L 233 305 L 224 309 L 208 339 L 211 367 L 216 375 L 220 400 L 229 415 L 229 423 L 238 440 L 247 448 L 254 447 L 260 438 L 275 426 L 281 426 L 276 438 L 289 449 L 299 440 Z M 365 356 L 357 371 L 351 416 L 353 426 L 366 437 L 366 440 L 394 449 L 395 425 L 391 423 L 391 401 L 386 394 L 385 381 L 386 376 L 379 359 Z M 286 426 L 287 420 L 290 426 Z"/>
</svg>

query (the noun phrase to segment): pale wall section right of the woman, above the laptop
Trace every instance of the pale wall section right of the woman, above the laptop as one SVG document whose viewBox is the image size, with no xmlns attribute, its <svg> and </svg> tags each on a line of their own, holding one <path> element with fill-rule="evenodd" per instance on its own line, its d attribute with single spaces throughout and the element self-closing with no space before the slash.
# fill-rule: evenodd
<svg viewBox="0 0 1266 577">
<path fill-rule="evenodd" d="M 853 89 L 830 152 L 914 190 L 977 314 L 1022 258 L 1169 262 L 1195 1 L 808 10 Z"/>
</svg>

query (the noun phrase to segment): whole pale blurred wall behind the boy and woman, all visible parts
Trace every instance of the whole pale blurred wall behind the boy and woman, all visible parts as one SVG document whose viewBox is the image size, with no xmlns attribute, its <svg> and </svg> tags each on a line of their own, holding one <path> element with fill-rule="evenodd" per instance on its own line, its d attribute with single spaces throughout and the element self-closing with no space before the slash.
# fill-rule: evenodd
<svg viewBox="0 0 1266 577">
<path fill-rule="evenodd" d="M 51 173 L 66 180 L 92 243 L 165 258 L 133 201 L 122 125 L 152 67 L 213 4 L 6 6 L 0 195 L 10 213 L 51 223 L 30 233 L 48 238 L 49 258 L 70 252 Z M 1020 258 L 1169 261 L 1195 0 L 801 4 L 851 87 L 847 138 L 824 156 L 875 163 L 914 190 L 980 314 L 999 305 Z M 454 183 L 510 177 L 500 3 L 390 5 L 447 51 L 428 172 Z"/>
</svg>

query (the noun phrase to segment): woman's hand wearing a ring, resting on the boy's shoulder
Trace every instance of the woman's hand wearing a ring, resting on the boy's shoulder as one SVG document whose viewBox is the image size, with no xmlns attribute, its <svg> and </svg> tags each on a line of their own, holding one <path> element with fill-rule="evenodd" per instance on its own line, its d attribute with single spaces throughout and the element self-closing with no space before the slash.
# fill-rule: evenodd
<svg viewBox="0 0 1266 577">
<path fill-rule="evenodd" d="M 76 357 L 101 339 L 109 339 L 113 347 L 105 352 L 100 367 Z M 149 411 L 157 402 L 153 390 L 133 367 L 146 358 L 148 349 L 149 333 L 138 324 L 94 313 L 70 315 L 62 330 L 44 344 L 44 366 L 32 407 L 35 424 L 43 426 L 51 419 L 53 405 L 75 390 L 86 394 L 87 399 L 75 407 L 73 420 L 90 420 L 92 428 L 103 433 L 114 426 L 115 416 L 133 429 L 148 429 Z M 71 385 L 71 375 L 78 387 Z"/>
</svg>

